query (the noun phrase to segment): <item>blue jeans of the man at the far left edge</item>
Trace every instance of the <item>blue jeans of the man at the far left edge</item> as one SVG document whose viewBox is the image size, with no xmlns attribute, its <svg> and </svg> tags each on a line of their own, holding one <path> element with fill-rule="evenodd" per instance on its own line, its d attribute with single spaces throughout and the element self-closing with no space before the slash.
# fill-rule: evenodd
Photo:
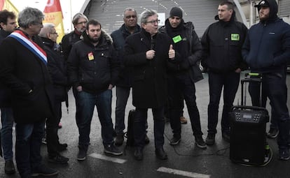
<svg viewBox="0 0 290 178">
<path fill-rule="evenodd" d="M 1 144 L 5 161 L 13 159 L 13 112 L 11 107 L 1 107 Z"/>
</svg>

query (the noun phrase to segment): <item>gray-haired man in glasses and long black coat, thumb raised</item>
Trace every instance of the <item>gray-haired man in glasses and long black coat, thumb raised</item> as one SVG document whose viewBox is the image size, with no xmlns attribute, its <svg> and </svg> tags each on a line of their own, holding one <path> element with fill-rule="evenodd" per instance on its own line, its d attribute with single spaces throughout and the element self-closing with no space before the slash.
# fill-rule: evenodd
<svg viewBox="0 0 290 178">
<path fill-rule="evenodd" d="M 132 66 L 134 117 L 134 157 L 143 159 L 144 139 L 148 109 L 154 119 L 156 156 L 167 159 L 164 144 L 164 106 L 167 99 L 166 66 L 174 60 L 170 38 L 158 33 L 158 15 L 155 10 L 145 10 L 140 15 L 141 31 L 125 40 L 125 65 Z"/>
</svg>

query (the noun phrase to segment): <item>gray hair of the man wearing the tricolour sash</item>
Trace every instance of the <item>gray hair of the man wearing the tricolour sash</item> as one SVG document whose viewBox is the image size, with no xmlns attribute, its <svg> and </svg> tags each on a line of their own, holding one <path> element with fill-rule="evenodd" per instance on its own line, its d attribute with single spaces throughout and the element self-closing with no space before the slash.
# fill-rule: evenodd
<svg viewBox="0 0 290 178">
<path fill-rule="evenodd" d="M 19 13 L 18 25 L 19 27 L 27 29 L 30 24 L 39 24 L 39 22 L 42 22 L 43 19 L 44 14 L 41 12 L 41 10 L 27 7 Z"/>
</svg>

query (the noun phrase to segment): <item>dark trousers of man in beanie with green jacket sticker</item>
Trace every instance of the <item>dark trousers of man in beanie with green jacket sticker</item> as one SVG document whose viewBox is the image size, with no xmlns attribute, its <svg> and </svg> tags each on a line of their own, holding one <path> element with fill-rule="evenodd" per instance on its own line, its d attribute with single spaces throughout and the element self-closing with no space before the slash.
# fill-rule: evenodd
<svg viewBox="0 0 290 178">
<path fill-rule="evenodd" d="M 170 126 L 173 136 L 181 137 L 180 114 L 181 106 L 186 101 L 186 106 L 191 119 L 193 135 L 202 135 L 200 126 L 200 112 L 196 105 L 195 84 L 188 73 L 181 75 L 170 75 L 168 82 L 168 103 Z"/>
</svg>

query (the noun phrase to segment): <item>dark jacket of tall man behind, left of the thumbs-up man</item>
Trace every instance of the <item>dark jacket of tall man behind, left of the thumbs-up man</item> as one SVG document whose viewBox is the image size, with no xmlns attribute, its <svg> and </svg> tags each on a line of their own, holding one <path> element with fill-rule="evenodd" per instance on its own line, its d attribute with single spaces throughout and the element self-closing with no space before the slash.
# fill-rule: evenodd
<svg viewBox="0 0 290 178">
<path fill-rule="evenodd" d="M 134 33 L 139 32 L 140 26 L 137 24 L 137 28 Z M 120 72 L 118 74 L 117 86 L 120 87 L 132 87 L 132 67 L 125 66 L 124 64 L 124 45 L 127 36 L 130 36 L 130 32 L 127 31 L 125 24 L 123 24 L 120 29 L 113 31 L 111 37 L 113 38 L 113 47 L 116 50 L 118 61 L 120 63 Z"/>
</svg>

